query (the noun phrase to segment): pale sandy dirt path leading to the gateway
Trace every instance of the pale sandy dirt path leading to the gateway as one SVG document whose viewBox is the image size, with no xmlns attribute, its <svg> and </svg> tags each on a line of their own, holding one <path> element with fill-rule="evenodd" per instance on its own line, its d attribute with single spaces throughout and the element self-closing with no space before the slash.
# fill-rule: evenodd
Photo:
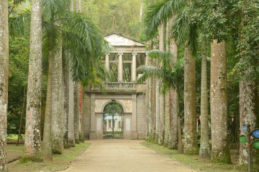
<svg viewBox="0 0 259 172">
<path fill-rule="evenodd" d="M 172 171 L 196 172 L 141 144 L 141 140 L 87 141 L 90 147 L 66 172 Z"/>
</svg>

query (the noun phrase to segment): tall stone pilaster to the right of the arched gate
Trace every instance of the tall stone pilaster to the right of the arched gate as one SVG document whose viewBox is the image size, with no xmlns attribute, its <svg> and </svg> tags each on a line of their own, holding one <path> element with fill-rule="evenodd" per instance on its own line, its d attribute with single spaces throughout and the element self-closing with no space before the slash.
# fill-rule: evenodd
<svg viewBox="0 0 259 172">
<path fill-rule="evenodd" d="M 132 130 L 131 130 L 131 139 L 134 139 L 134 140 L 138 139 L 136 101 L 137 101 L 137 95 L 136 94 L 132 94 Z"/>
</svg>

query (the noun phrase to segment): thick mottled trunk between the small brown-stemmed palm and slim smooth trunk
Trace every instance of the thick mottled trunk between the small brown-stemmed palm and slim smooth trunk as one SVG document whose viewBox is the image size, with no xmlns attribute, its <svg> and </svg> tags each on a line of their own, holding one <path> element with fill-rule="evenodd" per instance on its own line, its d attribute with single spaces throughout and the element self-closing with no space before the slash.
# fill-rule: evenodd
<svg viewBox="0 0 259 172">
<path fill-rule="evenodd" d="M 198 155 L 195 60 L 187 47 L 184 54 L 184 126 L 184 154 Z"/>
</svg>

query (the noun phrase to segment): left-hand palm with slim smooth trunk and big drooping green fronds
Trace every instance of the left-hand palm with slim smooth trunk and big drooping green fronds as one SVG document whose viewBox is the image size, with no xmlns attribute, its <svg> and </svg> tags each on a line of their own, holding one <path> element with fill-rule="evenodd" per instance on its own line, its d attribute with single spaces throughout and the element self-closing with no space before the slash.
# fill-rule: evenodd
<svg viewBox="0 0 259 172">
<path fill-rule="evenodd" d="M 75 82 L 82 81 L 87 84 L 89 81 L 93 85 L 98 85 L 101 90 L 105 90 L 104 83 L 99 76 L 104 76 L 107 71 L 100 61 L 100 54 L 103 51 L 103 45 L 108 45 L 100 35 L 98 28 L 93 24 L 92 20 L 86 15 L 74 12 L 68 12 L 67 6 L 70 1 L 42 1 L 43 15 L 42 15 L 42 28 L 43 28 L 43 44 L 45 62 L 48 62 L 48 88 L 46 100 L 46 116 L 44 127 L 44 141 L 43 147 L 44 159 L 47 161 L 52 160 L 51 153 L 51 109 L 52 109 L 52 61 L 55 56 L 61 53 L 61 43 L 66 45 L 71 67 L 71 79 Z M 26 27 L 30 25 L 30 11 L 23 11 L 18 17 L 11 18 L 9 21 L 10 32 L 25 32 Z M 54 58 L 53 58 L 54 56 Z M 59 56 L 60 57 L 60 56 Z M 59 59 L 56 61 L 62 64 Z M 55 63 L 55 65 L 56 65 Z M 46 63 L 47 64 L 47 63 Z M 46 65 L 47 66 L 47 65 Z M 62 68 L 59 68 L 59 73 L 62 73 Z M 55 71 L 58 72 L 58 71 Z M 104 74 L 103 74 L 104 72 Z M 100 75 L 101 74 L 101 75 Z M 59 99 L 61 101 L 61 99 Z M 48 102 L 48 103 L 47 103 Z M 60 106 L 60 104 L 59 104 Z M 58 107 L 59 108 L 59 107 Z M 60 109 L 60 108 L 59 108 Z M 48 121 L 49 120 L 49 121 Z M 53 119 L 57 120 L 57 119 Z M 60 124 L 60 122 L 59 122 Z M 61 128 L 61 127 L 59 127 Z M 61 134 L 61 133 L 60 133 Z M 60 140 L 60 138 L 59 138 Z M 60 145 L 61 141 L 59 141 Z"/>
</svg>

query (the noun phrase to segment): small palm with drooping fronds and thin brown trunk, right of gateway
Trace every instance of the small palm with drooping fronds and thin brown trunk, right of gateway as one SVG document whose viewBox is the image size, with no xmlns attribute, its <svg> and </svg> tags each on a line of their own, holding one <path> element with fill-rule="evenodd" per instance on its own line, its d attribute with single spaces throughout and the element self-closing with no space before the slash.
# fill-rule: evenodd
<svg viewBox="0 0 259 172">
<path fill-rule="evenodd" d="M 170 52 L 161 50 L 151 50 L 148 53 L 150 58 L 155 58 L 160 63 L 160 67 L 154 65 L 142 65 L 137 71 L 143 75 L 139 78 L 138 83 L 144 82 L 148 77 L 154 76 L 163 80 L 160 82 L 160 93 L 165 95 L 169 90 L 177 92 L 177 115 L 178 115 L 178 153 L 183 153 L 181 123 L 180 123 L 180 108 L 179 108 L 179 92 L 183 88 L 184 82 L 184 58 L 174 61 L 174 55 Z"/>
</svg>

